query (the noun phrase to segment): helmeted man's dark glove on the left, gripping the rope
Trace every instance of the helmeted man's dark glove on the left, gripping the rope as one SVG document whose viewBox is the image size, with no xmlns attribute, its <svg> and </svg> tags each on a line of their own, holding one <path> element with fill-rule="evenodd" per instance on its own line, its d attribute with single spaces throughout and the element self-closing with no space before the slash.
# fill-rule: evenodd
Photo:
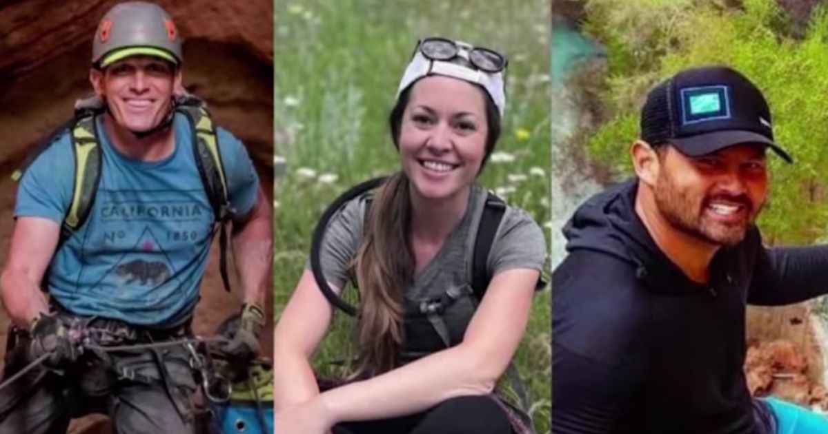
<svg viewBox="0 0 828 434">
<path fill-rule="evenodd" d="M 51 370 L 63 370 L 75 363 L 81 353 L 82 347 L 77 339 L 73 339 L 70 327 L 56 315 L 40 314 L 32 320 L 29 345 L 31 360 L 48 354 L 43 365 Z"/>
</svg>

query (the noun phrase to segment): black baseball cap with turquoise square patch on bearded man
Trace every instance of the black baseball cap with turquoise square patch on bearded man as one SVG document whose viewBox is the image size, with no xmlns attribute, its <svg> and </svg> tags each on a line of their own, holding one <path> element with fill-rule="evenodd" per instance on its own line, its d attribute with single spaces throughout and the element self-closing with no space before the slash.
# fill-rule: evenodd
<svg viewBox="0 0 828 434">
<path fill-rule="evenodd" d="M 741 143 L 770 147 L 792 163 L 773 141 L 773 124 L 762 92 L 726 66 L 685 69 L 647 93 L 641 138 L 670 143 L 684 155 L 700 156 Z"/>
</svg>

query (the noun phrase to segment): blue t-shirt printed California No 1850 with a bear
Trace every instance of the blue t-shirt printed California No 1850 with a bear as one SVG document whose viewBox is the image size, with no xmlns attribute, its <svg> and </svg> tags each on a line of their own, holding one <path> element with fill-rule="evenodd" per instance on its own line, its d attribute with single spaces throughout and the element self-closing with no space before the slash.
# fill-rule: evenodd
<svg viewBox="0 0 828 434">
<path fill-rule="evenodd" d="M 81 315 L 179 325 L 198 302 L 214 227 L 190 123 L 176 113 L 176 149 L 152 162 L 118 152 L 101 117 L 96 125 L 103 151 L 98 193 L 83 227 L 51 260 L 49 292 Z M 258 176 L 242 143 L 221 128 L 217 135 L 231 206 L 246 214 L 256 202 Z M 66 133 L 26 169 L 15 217 L 63 222 L 75 184 L 74 159 Z"/>
</svg>

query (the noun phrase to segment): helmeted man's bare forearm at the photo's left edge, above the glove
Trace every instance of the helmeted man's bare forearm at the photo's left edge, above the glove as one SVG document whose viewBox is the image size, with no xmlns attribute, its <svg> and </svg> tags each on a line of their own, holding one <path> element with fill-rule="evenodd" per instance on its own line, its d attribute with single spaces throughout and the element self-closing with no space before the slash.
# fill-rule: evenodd
<svg viewBox="0 0 828 434">
<path fill-rule="evenodd" d="M 46 296 L 21 270 L 6 269 L 0 276 L 2 303 L 12 322 L 28 328 L 38 313 L 49 312 Z"/>
</svg>

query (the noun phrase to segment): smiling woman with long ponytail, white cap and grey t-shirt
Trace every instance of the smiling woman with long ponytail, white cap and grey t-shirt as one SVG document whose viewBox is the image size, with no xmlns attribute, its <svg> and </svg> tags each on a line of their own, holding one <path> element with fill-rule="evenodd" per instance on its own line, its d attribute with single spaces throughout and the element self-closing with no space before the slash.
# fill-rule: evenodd
<svg viewBox="0 0 828 434">
<path fill-rule="evenodd" d="M 544 237 L 476 184 L 500 135 L 506 68 L 462 41 L 417 43 L 388 117 L 400 170 L 346 203 L 320 246 L 323 284 L 359 288 L 354 365 L 333 381 L 311 369 L 331 310 L 306 269 L 275 332 L 277 432 L 532 432 L 526 409 L 494 391 L 543 286 Z"/>
</svg>

